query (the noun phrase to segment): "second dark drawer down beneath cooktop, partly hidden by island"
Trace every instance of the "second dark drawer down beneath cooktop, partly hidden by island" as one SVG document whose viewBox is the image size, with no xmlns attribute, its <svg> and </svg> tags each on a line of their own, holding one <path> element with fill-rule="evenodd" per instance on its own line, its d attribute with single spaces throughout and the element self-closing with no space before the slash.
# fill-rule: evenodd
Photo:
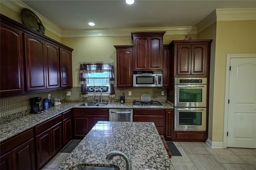
<svg viewBox="0 0 256 170">
<path fill-rule="evenodd" d="M 134 116 L 134 122 L 154 122 L 156 127 L 164 127 L 163 116 Z"/>
</svg>

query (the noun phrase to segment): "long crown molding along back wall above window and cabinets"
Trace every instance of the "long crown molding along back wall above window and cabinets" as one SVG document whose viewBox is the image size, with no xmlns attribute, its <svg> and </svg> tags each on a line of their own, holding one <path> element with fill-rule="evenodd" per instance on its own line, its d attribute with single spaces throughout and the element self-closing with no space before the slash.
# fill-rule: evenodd
<svg viewBox="0 0 256 170">
<path fill-rule="evenodd" d="M 85 30 L 62 30 L 62 37 L 109 37 L 131 36 L 131 32 L 159 32 L 166 31 L 164 35 L 197 34 L 195 26 L 188 27 L 152 27 L 152 28 L 118 28 L 118 29 L 85 29 Z"/>
</svg>

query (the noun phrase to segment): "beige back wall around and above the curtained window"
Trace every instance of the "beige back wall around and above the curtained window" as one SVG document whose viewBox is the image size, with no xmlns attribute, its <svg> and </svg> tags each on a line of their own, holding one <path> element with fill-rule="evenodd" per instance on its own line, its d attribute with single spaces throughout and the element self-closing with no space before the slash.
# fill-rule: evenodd
<svg viewBox="0 0 256 170">
<path fill-rule="evenodd" d="M 192 38 L 194 37 L 196 35 L 192 35 Z M 164 44 L 169 44 L 172 40 L 183 39 L 184 35 L 166 35 L 164 36 Z M 132 45 L 133 41 L 131 36 L 83 37 L 62 38 L 62 43 L 74 49 L 72 52 L 73 87 L 78 87 L 80 86 L 79 62 L 112 61 L 116 68 L 116 49 L 114 45 Z"/>
</svg>

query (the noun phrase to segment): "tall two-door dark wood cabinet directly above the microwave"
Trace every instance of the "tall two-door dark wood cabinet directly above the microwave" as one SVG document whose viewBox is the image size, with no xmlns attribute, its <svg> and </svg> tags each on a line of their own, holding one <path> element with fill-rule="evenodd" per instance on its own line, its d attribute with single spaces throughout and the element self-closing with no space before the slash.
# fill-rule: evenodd
<svg viewBox="0 0 256 170">
<path fill-rule="evenodd" d="M 162 70 L 165 32 L 132 32 L 134 70 Z"/>
</svg>

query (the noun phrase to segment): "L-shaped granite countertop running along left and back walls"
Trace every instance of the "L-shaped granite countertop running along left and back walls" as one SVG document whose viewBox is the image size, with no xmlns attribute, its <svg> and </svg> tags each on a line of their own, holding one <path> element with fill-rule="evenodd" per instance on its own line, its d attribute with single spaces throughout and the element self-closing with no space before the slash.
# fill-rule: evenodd
<svg viewBox="0 0 256 170">
<path fill-rule="evenodd" d="M 85 108 L 126 108 L 126 109 L 173 109 L 172 103 L 162 103 L 163 107 L 132 107 L 132 103 L 110 103 L 104 107 L 100 106 L 79 106 L 84 102 L 64 102 L 61 105 L 51 107 L 40 114 L 27 114 L 16 117 L 15 119 L 7 120 L 1 123 L 0 128 L 0 142 L 11 138 L 25 130 L 28 130 L 44 121 L 52 119 L 61 113 L 64 113 L 72 108 L 85 109 Z M 2 118 L 1 118 L 2 119 Z"/>
</svg>

